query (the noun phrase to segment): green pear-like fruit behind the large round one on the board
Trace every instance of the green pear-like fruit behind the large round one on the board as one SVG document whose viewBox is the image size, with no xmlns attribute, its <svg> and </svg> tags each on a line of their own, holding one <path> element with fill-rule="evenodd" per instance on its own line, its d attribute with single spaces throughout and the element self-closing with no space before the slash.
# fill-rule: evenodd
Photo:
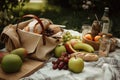
<svg viewBox="0 0 120 80">
<path fill-rule="evenodd" d="M 17 48 L 11 51 L 10 54 L 16 54 L 24 61 L 27 56 L 27 50 L 25 48 Z"/>
</svg>

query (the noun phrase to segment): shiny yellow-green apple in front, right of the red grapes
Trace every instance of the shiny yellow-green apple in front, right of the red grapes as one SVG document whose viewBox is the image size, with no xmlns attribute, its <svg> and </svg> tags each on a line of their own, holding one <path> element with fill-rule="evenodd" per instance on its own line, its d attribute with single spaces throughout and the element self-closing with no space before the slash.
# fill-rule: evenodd
<svg viewBox="0 0 120 80">
<path fill-rule="evenodd" d="M 68 61 L 68 68 L 74 73 L 80 73 L 84 69 L 84 61 L 80 57 L 71 57 Z"/>
</svg>

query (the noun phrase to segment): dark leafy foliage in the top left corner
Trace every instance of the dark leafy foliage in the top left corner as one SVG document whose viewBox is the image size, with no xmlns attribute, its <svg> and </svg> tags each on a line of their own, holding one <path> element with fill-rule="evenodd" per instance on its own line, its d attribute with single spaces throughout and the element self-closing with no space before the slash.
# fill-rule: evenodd
<svg viewBox="0 0 120 80">
<path fill-rule="evenodd" d="M 0 32 L 4 26 L 15 21 L 16 16 L 13 15 L 13 9 L 19 7 L 20 15 L 27 2 L 29 0 L 0 0 Z"/>
</svg>

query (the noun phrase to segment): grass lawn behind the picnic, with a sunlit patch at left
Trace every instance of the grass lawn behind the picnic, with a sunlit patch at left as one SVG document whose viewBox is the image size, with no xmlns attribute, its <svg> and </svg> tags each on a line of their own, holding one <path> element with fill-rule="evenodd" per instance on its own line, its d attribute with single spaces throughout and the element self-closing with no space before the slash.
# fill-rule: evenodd
<svg viewBox="0 0 120 80">
<path fill-rule="evenodd" d="M 83 10 L 75 10 L 71 8 L 61 8 L 59 6 L 52 6 L 46 3 L 27 3 L 23 8 L 24 14 L 34 14 L 41 18 L 48 18 L 54 24 L 65 25 L 67 29 L 80 31 L 83 24 L 92 24 L 95 20 L 95 13 Z M 98 18 L 102 16 L 103 11 L 98 12 Z M 89 16 L 89 19 L 88 19 Z M 119 13 L 112 14 L 113 20 L 112 33 L 120 37 L 120 16 Z"/>
</svg>

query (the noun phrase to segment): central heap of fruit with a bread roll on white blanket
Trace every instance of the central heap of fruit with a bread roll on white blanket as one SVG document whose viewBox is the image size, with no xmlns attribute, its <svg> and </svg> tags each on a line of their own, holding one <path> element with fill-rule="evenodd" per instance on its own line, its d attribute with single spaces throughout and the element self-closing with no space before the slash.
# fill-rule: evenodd
<svg viewBox="0 0 120 80">
<path fill-rule="evenodd" d="M 73 37 L 70 32 L 66 32 L 62 42 L 54 49 L 57 60 L 52 61 L 52 68 L 54 70 L 69 69 L 75 73 L 82 72 L 84 61 L 98 60 L 98 56 L 93 52 L 94 48 L 91 45 L 83 43 L 80 37 Z"/>
</svg>

